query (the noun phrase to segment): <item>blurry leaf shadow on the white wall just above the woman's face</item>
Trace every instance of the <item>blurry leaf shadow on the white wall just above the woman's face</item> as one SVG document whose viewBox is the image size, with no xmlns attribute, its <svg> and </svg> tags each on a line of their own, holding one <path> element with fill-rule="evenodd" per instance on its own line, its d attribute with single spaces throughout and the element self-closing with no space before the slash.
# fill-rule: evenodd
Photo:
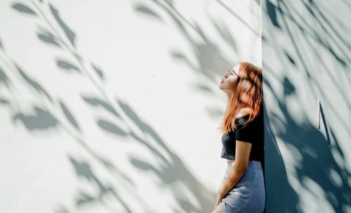
<svg viewBox="0 0 351 213">
<path fill-rule="evenodd" d="M 210 16 L 211 24 L 216 29 L 216 32 L 218 32 L 219 37 L 223 39 L 225 44 L 234 53 L 233 57 L 228 60 L 223 56 L 220 47 L 201 29 L 198 22 L 195 20 L 187 20 L 185 15 L 183 15 L 181 11 L 178 11 L 176 6 L 174 6 L 173 2 L 174 1 L 152 0 L 145 1 L 143 4 L 137 3 L 133 7 L 137 13 L 140 13 L 140 15 L 150 17 L 153 20 L 159 21 L 161 24 L 168 24 L 164 22 L 164 20 L 170 20 L 174 23 L 174 26 L 177 27 L 178 32 L 187 41 L 188 46 L 190 46 L 192 57 L 187 58 L 186 51 L 182 52 L 179 49 L 173 49 L 170 52 L 170 56 L 174 60 L 179 60 L 181 63 L 185 63 L 185 65 L 190 67 L 192 71 L 197 72 L 197 75 L 201 75 L 201 78 L 198 78 L 200 79 L 199 82 L 192 82 L 194 89 L 198 89 L 199 91 L 213 95 L 212 98 L 218 98 L 218 101 L 223 101 L 223 97 L 218 96 L 218 80 L 215 77 L 223 76 L 223 73 L 227 71 L 229 67 L 232 67 L 233 63 L 238 62 L 233 61 L 233 58 L 234 60 L 239 60 L 239 58 L 241 58 L 237 51 L 237 49 L 239 49 L 237 39 L 232 36 L 232 30 L 230 30 L 230 27 L 225 25 L 223 22 L 214 20 Z M 151 4 L 152 6 L 149 6 L 146 3 Z M 258 32 L 258 30 L 253 29 L 253 27 L 249 25 L 246 20 L 232 11 L 230 7 L 223 3 L 223 1 L 217 0 L 216 4 L 222 6 L 225 11 L 228 11 L 228 13 L 233 16 L 233 19 L 239 20 L 239 22 L 247 27 L 256 37 L 260 37 L 260 32 Z M 260 3 L 259 1 L 256 1 L 254 4 L 259 5 Z M 157 10 L 154 10 L 154 7 L 157 7 Z M 163 19 L 163 15 L 167 17 Z M 199 38 L 201 38 L 201 41 L 199 41 Z M 257 49 L 257 46 L 256 44 L 253 44 L 247 48 Z M 192 60 L 194 60 L 194 62 L 192 62 Z M 208 81 L 204 82 L 201 79 L 208 79 Z M 224 112 L 222 108 L 210 108 L 208 113 L 213 115 L 213 117 L 220 117 Z"/>
</svg>

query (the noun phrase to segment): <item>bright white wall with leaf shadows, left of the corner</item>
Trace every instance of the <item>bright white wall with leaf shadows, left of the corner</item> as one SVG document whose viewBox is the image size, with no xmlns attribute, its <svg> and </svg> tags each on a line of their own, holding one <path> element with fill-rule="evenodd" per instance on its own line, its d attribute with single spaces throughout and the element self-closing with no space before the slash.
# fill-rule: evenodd
<svg viewBox="0 0 351 213">
<path fill-rule="evenodd" d="M 212 209 L 218 85 L 261 65 L 260 5 L 171 2 L 1 1 L 1 212 Z"/>
</svg>

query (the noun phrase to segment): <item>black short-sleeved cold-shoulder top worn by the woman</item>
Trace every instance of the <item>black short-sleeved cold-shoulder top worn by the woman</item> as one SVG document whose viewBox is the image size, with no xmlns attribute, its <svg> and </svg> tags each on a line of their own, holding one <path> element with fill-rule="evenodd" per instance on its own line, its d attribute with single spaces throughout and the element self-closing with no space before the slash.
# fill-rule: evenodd
<svg viewBox="0 0 351 213">
<path fill-rule="evenodd" d="M 264 157 L 264 136 L 263 136 L 263 111 L 253 119 L 252 122 L 244 126 L 244 122 L 249 119 L 249 115 L 237 117 L 235 124 L 237 129 L 222 136 L 222 154 L 220 157 L 235 160 L 235 146 L 238 141 L 252 143 L 249 160 L 256 160 L 263 164 Z"/>
</svg>

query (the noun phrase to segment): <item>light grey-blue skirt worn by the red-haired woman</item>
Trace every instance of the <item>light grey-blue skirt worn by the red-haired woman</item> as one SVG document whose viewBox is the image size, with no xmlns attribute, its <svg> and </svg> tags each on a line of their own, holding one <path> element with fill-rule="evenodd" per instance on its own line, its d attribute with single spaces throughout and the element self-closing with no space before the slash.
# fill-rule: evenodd
<svg viewBox="0 0 351 213">
<path fill-rule="evenodd" d="M 227 176 L 234 162 L 227 162 Z M 246 172 L 239 182 L 225 195 L 216 209 L 223 213 L 250 212 L 262 213 L 265 209 L 265 181 L 262 165 L 259 161 L 249 161 Z"/>
</svg>

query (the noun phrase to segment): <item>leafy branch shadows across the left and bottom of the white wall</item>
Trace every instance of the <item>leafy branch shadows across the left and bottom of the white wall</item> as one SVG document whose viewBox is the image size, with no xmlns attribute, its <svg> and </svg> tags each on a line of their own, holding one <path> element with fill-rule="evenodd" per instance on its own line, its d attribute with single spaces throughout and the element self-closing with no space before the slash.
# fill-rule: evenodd
<svg viewBox="0 0 351 213">
<path fill-rule="evenodd" d="M 180 157 L 168 149 L 164 140 L 158 136 L 157 131 L 143 121 L 128 103 L 124 103 L 118 98 L 110 100 L 103 89 L 104 72 L 98 65 L 86 60 L 84 56 L 79 54 L 75 46 L 76 34 L 60 17 L 60 13 L 55 6 L 44 1 L 30 1 L 30 4 L 29 2 L 26 4 L 14 2 L 11 4 L 11 7 L 15 11 L 20 12 L 20 14 L 37 20 L 39 24 L 37 37 L 40 41 L 48 46 L 55 46 L 62 53 L 66 53 L 65 58 L 55 59 L 55 63 L 60 67 L 60 70 L 71 75 L 86 77 L 95 86 L 100 96 L 83 94 L 81 98 L 84 103 L 91 106 L 94 110 L 104 110 L 112 116 L 98 118 L 96 120 L 98 127 L 117 136 L 131 136 L 135 139 L 135 146 L 143 146 L 161 164 L 161 167 L 157 167 L 137 157 L 130 157 L 130 162 L 135 169 L 139 169 L 145 174 L 147 172 L 152 172 L 153 175 L 156 174 L 159 180 L 162 181 L 160 186 L 168 188 L 173 193 L 179 206 L 177 209 L 169 210 L 173 210 L 173 212 L 206 212 L 208 209 L 211 209 L 216 193 L 209 191 L 192 175 Z M 51 20 L 55 20 L 55 22 Z M 49 90 L 44 88 L 35 77 L 29 75 L 23 67 L 15 63 L 11 56 L 7 56 L 3 45 L 1 45 L 1 52 L 4 57 L 1 58 L 0 64 L 0 86 L 4 86 L 7 89 L 8 93 L 11 94 L 11 98 L 1 97 L 0 103 L 13 115 L 13 124 L 22 122 L 27 130 L 36 132 L 44 132 L 48 129 L 64 130 L 118 182 L 117 186 L 120 188 L 117 190 L 110 183 L 105 183 L 105 181 L 101 180 L 102 177 L 91 168 L 91 162 L 78 160 L 77 157 L 68 155 L 69 162 L 75 169 L 77 177 L 86 179 L 92 188 L 96 188 L 95 193 L 91 193 L 91 190 L 79 189 L 77 198 L 74 198 L 77 208 L 97 203 L 105 207 L 107 211 L 117 212 L 117 209 L 110 208 L 110 205 L 104 200 L 105 196 L 109 196 L 109 199 L 112 196 L 119 205 L 124 207 L 124 212 L 132 212 L 133 208 L 128 203 L 128 200 L 124 200 L 122 197 L 125 196 L 122 196 L 119 192 L 132 193 L 137 191 L 133 179 L 123 172 L 123 167 L 113 164 L 108 157 L 102 157 L 103 153 L 98 153 L 89 146 L 84 138 L 83 128 L 79 124 L 79 120 L 77 120 L 77 115 L 73 115 L 72 110 L 69 109 L 65 101 L 52 96 Z M 20 94 L 16 93 L 16 82 L 20 82 L 21 86 L 26 86 L 36 98 L 37 103 L 22 103 Z M 25 112 L 20 105 L 30 106 L 34 113 Z M 130 121 L 143 134 L 133 131 Z M 122 128 L 121 125 L 124 127 Z M 157 146 L 152 145 L 152 140 L 157 143 Z M 187 188 L 187 193 L 179 190 L 180 186 Z M 153 207 L 145 203 L 143 198 L 139 197 L 137 193 L 129 196 L 138 200 L 145 212 L 154 211 Z M 190 201 L 194 199 L 197 202 L 196 204 Z M 65 204 L 59 204 L 55 212 L 75 212 L 75 210 L 69 209 Z"/>
</svg>

